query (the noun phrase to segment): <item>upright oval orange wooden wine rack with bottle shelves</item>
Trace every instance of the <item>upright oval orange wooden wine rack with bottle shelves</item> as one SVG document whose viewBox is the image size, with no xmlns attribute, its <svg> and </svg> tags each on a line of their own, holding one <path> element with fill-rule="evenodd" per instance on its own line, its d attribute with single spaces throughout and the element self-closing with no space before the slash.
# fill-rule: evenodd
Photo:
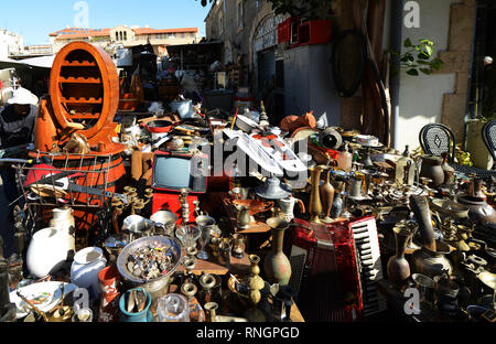
<svg viewBox="0 0 496 344">
<path fill-rule="evenodd" d="M 103 49 L 86 42 L 65 45 L 50 75 L 50 97 L 56 121 L 85 123 L 88 140 L 114 121 L 119 105 L 117 68 Z"/>
</svg>

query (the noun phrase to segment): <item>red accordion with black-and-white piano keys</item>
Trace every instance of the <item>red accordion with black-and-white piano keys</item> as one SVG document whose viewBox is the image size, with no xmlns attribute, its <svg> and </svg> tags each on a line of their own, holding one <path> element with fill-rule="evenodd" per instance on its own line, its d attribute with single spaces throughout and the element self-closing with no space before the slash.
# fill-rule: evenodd
<svg viewBox="0 0 496 344">
<path fill-rule="evenodd" d="M 299 308 L 308 321 L 362 321 L 387 309 L 374 216 L 333 224 L 294 218 L 284 251 Z"/>
</svg>

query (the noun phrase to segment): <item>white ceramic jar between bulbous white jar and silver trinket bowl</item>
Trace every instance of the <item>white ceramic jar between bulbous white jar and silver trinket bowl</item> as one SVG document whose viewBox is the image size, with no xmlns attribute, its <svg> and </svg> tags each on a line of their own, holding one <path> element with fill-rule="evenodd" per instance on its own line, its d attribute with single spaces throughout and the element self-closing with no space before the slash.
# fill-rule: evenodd
<svg viewBox="0 0 496 344">
<path fill-rule="evenodd" d="M 98 273 L 107 266 L 104 251 L 98 247 L 86 247 L 74 256 L 71 267 L 71 282 L 79 288 L 86 288 L 91 299 L 101 293 Z"/>
</svg>

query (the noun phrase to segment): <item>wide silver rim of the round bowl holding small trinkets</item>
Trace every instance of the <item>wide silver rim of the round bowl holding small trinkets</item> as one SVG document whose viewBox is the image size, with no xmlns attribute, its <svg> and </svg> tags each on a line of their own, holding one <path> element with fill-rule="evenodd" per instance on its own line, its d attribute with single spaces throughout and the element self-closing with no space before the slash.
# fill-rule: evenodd
<svg viewBox="0 0 496 344">
<path fill-rule="evenodd" d="M 158 277 L 155 279 L 151 280 L 143 280 L 141 278 L 137 278 L 133 276 L 127 268 L 127 262 L 129 255 L 134 254 L 138 249 L 140 249 L 143 246 L 158 243 L 165 247 L 165 249 L 172 248 L 172 256 L 173 256 L 173 268 L 169 270 L 168 273 Z M 117 268 L 119 269 L 119 273 L 122 276 L 122 278 L 127 281 L 137 283 L 137 284 L 143 284 L 143 283 L 153 283 L 159 280 L 169 279 L 172 273 L 179 268 L 182 261 L 182 252 L 181 252 L 181 243 L 179 239 L 170 237 L 170 236 L 151 236 L 151 237 L 144 237 L 140 238 L 136 241 L 132 241 L 131 244 L 127 245 L 122 251 L 120 252 L 119 257 L 117 258 Z"/>
</svg>

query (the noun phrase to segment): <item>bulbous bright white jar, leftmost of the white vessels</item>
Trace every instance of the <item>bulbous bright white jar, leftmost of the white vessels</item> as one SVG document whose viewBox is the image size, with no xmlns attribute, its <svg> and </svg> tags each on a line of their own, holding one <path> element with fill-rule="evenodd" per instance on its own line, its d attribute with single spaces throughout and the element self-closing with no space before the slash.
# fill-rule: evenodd
<svg viewBox="0 0 496 344">
<path fill-rule="evenodd" d="M 56 228 L 44 228 L 31 238 L 26 266 L 31 275 L 42 278 L 56 272 L 67 259 L 65 238 Z"/>
</svg>

